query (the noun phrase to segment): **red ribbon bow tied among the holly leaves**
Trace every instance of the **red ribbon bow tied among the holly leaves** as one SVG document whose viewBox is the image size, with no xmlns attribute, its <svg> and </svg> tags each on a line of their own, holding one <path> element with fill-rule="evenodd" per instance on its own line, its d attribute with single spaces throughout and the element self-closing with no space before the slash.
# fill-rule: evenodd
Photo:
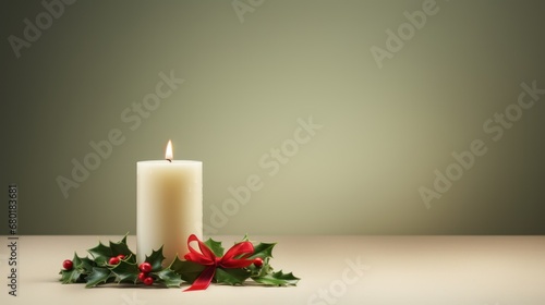
<svg viewBox="0 0 545 305">
<path fill-rule="evenodd" d="M 198 243 L 198 248 L 201 249 L 201 253 L 198 253 L 190 245 L 191 242 Z M 191 234 L 187 237 L 187 248 L 190 249 L 190 253 L 184 255 L 185 259 L 208 267 L 206 267 L 206 269 L 203 270 L 201 276 L 198 276 L 198 278 L 193 282 L 193 284 L 184 291 L 207 289 L 211 282 L 211 279 L 214 279 L 214 274 L 216 273 L 216 268 L 218 267 L 244 268 L 254 263 L 253 259 L 246 259 L 254 253 L 254 246 L 252 245 L 251 242 L 238 243 L 234 246 L 232 246 L 229 251 L 227 251 L 227 253 L 222 257 L 216 257 L 216 255 L 214 255 L 214 252 L 211 252 L 211 249 L 208 248 L 208 246 L 206 246 L 205 243 L 198 240 L 198 237 L 195 236 L 195 234 Z"/>
</svg>

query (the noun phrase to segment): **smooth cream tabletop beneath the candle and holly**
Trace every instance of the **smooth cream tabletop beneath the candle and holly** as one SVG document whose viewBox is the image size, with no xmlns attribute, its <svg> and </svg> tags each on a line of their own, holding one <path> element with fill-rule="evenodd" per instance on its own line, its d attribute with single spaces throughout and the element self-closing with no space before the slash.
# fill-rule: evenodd
<svg viewBox="0 0 545 305">
<path fill-rule="evenodd" d="M 63 259 L 121 236 L 20 236 L 17 296 L 8 294 L 1 236 L 0 304 L 373 304 L 544 305 L 545 236 L 251 236 L 278 242 L 271 265 L 293 288 L 182 289 L 61 284 Z M 240 236 L 214 236 L 231 245 Z M 135 236 L 129 236 L 135 249 Z"/>
</svg>

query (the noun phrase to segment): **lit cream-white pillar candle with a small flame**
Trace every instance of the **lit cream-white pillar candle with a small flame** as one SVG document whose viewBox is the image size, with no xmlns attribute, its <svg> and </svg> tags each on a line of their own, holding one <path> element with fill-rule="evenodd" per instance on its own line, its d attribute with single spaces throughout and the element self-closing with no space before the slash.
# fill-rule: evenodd
<svg viewBox="0 0 545 305">
<path fill-rule="evenodd" d="M 165 159 L 136 164 L 136 260 L 162 245 L 166 267 L 203 237 L 203 162 L 172 160 L 170 141 Z"/>
</svg>

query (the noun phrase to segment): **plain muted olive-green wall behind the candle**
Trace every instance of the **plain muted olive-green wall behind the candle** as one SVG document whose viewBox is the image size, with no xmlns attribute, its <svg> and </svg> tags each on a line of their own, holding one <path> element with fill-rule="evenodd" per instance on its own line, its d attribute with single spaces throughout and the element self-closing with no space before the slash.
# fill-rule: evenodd
<svg viewBox="0 0 545 305">
<path fill-rule="evenodd" d="M 518 106 L 521 84 L 545 88 L 543 1 L 46 3 L 58 17 L 39 1 L 0 13 L 1 185 L 19 185 L 21 234 L 134 233 L 136 161 L 169 138 L 204 162 L 207 234 L 545 233 L 545 95 Z M 183 84 L 138 114 L 160 73 Z M 123 143 L 64 196 L 59 176 L 112 130 Z M 444 193 L 436 170 L 458 179 Z"/>
</svg>

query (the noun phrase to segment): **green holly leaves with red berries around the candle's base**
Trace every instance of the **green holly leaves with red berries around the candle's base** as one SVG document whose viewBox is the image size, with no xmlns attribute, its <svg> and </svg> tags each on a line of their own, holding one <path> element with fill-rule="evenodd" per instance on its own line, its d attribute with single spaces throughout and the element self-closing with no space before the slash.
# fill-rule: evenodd
<svg viewBox="0 0 545 305">
<path fill-rule="evenodd" d="M 243 242 L 251 242 L 245 235 Z M 204 242 L 217 257 L 225 254 L 221 242 L 208 239 Z M 228 285 L 242 285 L 246 280 L 257 284 L 286 286 L 296 285 L 299 278 L 292 272 L 276 271 L 270 266 L 272 249 L 276 243 L 254 243 L 254 253 L 247 259 L 254 264 L 245 268 L 217 268 L 213 282 Z M 72 260 L 66 259 L 61 269 L 60 281 L 64 284 L 85 283 L 86 288 L 94 288 L 106 283 L 147 284 L 179 288 L 182 283 L 193 283 L 206 266 L 178 257 L 166 268 L 162 267 L 165 256 L 162 247 L 154 249 L 146 256 L 143 264 L 137 265 L 136 255 L 126 244 L 126 235 L 119 242 L 99 244 L 87 251 L 90 257 L 80 257 L 74 253 Z"/>
</svg>

